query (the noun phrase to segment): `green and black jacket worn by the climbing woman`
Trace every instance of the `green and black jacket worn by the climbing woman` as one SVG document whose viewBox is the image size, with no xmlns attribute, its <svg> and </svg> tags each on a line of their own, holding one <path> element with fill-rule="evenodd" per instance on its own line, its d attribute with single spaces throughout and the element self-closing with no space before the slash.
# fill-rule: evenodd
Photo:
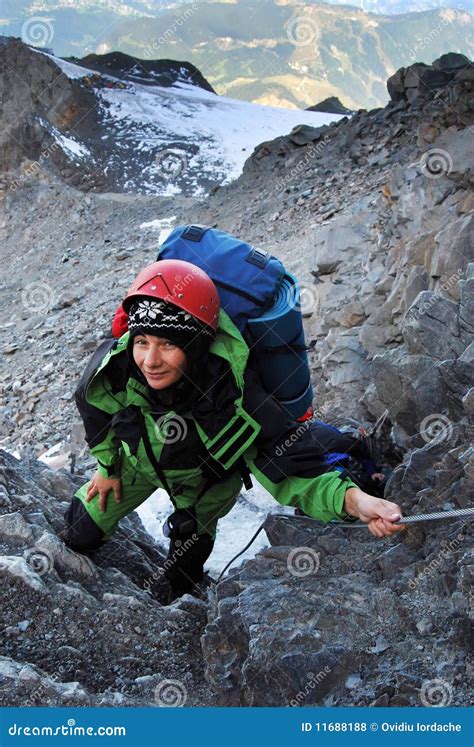
<svg viewBox="0 0 474 747">
<path fill-rule="evenodd" d="M 246 467 L 283 505 L 323 521 L 345 518 L 341 474 L 326 474 L 326 447 L 288 421 L 263 390 L 249 347 L 225 312 L 205 362 L 207 385 L 188 409 L 157 401 L 134 373 L 128 343 L 128 333 L 102 343 L 76 390 L 100 474 L 121 476 L 125 461 L 138 480 L 142 475 L 167 490 L 175 505 L 189 507 L 210 484 L 225 484 Z M 290 446 L 280 448 L 285 443 Z"/>
</svg>

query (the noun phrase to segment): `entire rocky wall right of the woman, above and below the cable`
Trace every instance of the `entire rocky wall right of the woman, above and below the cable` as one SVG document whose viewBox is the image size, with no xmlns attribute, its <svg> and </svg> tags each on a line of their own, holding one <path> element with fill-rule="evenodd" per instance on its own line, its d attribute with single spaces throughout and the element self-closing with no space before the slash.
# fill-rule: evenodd
<svg viewBox="0 0 474 747">
<path fill-rule="evenodd" d="M 385 109 L 262 144 L 192 213 L 306 280 L 316 407 L 388 413 L 381 449 L 404 457 L 386 497 L 405 515 L 473 494 L 473 68 L 460 62 L 399 71 Z M 304 520 L 266 530 L 271 548 L 218 587 L 202 639 L 221 703 L 467 704 L 469 522 L 381 543 Z"/>
</svg>

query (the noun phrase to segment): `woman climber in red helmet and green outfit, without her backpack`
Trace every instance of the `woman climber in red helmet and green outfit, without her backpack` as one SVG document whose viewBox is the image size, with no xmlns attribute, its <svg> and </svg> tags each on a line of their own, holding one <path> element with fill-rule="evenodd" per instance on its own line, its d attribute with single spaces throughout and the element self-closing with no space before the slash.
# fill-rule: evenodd
<svg viewBox="0 0 474 747">
<path fill-rule="evenodd" d="M 189 267 L 161 260 L 139 273 L 122 304 L 128 331 L 100 345 L 79 382 L 97 471 L 66 512 L 66 544 L 97 550 L 164 488 L 175 509 L 165 575 L 174 596 L 190 592 L 249 473 L 280 504 L 323 522 L 357 517 L 375 537 L 401 531 L 397 504 L 328 461 L 341 450 L 338 432 L 318 421 L 302 428 L 265 391 L 210 277 L 193 265 L 190 282 L 177 283 Z"/>
</svg>

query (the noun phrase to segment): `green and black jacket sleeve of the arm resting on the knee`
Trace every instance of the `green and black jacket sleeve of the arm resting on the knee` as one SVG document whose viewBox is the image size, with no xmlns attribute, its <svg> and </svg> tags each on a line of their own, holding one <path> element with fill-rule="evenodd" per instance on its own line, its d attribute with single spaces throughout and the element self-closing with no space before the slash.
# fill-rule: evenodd
<svg viewBox="0 0 474 747">
<path fill-rule="evenodd" d="M 88 386 L 114 342 L 106 340 L 99 346 L 89 361 L 74 395 L 84 423 L 86 442 L 91 454 L 97 459 L 97 470 L 103 477 L 115 477 L 120 472 L 120 440 L 113 431 L 112 419 L 114 414 L 122 409 L 122 404 L 118 393 L 113 393 L 112 384 L 105 373 L 94 381 L 92 393 L 88 391 Z"/>
</svg>

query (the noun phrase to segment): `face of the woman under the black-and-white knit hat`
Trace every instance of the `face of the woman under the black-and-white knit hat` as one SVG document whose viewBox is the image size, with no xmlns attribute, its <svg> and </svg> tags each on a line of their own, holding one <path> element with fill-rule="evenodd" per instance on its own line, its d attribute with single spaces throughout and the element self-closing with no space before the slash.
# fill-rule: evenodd
<svg viewBox="0 0 474 747">
<path fill-rule="evenodd" d="M 152 389 L 166 389 L 179 381 L 188 365 L 181 348 L 154 335 L 134 337 L 133 360 Z"/>
</svg>

